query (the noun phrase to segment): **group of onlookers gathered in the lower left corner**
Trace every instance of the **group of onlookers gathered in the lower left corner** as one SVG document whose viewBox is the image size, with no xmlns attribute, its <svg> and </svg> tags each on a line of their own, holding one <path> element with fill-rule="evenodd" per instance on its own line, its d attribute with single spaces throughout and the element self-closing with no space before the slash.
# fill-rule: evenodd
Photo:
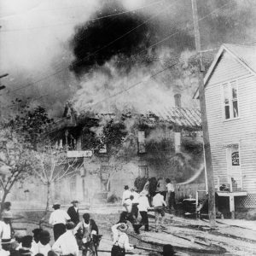
<svg viewBox="0 0 256 256">
<path fill-rule="evenodd" d="M 53 227 L 54 243 L 50 245 L 49 230 L 41 228 L 14 231 L 12 228 L 13 214 L 9 210 L 2 212 L 0 221 L 0 256 L 94 256 L 100 237 L 96 222 L 90 213 L 79 218 L 79 201 L 72 201 L 73 206 L 67 212 L 61 209 L 60 203 L 53 205 L 54 211 L 49 216 L 49 224 Z"/>
</svg>

